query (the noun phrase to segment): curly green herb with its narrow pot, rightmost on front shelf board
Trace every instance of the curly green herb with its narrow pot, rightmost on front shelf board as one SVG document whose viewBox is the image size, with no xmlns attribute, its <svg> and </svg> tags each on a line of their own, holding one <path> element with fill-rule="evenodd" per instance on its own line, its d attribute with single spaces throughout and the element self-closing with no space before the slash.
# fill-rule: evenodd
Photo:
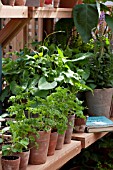
<svg viewBox="0 0 113 170">
<path fill-rule="evenodd" d="M 48 96 L 48 99 L 52 101 L 52 107 L 59 110 L 61 115 L 66 116 L 68 123 L 65 133 L 64 143 L 70 143 L 71 142 L 71 134 L 73 131 L 74 126 L 74 117 L 75 117 L 75 98 L 76 94 L 71 92 L 68 88 L 58 87 L 56 88 L 56 92 L 52 93 L 50 96 Z M 72 118 L 70 118 L 72 117 Z M 57 120 L 57 125 L 60 125 L 60 119 Z M 63 127 L 63 126 L 62 126 Z M 69 130 L 71 128 L 71 130 Z M 61 127 L 58 127 L 58 132 L 60 134 Z M 70 131 L 70 133 L 68 133 Z M 60 135 L 59 135 L 60 136 Z M 67 139 L 67 137 L 69 137 Z M 62 142 L 63 143 L 63 142 Z"/>
</svg>

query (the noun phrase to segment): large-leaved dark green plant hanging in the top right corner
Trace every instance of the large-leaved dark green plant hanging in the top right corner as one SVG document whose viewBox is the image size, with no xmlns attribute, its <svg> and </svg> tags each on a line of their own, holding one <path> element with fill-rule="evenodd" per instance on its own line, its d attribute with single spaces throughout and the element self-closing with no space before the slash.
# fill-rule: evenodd
<svg viewBox="0 0 113 170">
<path fill-rule="evenodd" d="M 91 32 L 97 27 L 101 11 L 109 11 L 101 1 L 84 1 L 84 4 L 76 5 L 73 8 L 73 19 L 77 31 L 85 43 L 92 38 Z M 105 1 L 103 1 L 105 2 Z M 112 15 L 107 15 L 106 22 L 112 26 Z"/>
</svg>

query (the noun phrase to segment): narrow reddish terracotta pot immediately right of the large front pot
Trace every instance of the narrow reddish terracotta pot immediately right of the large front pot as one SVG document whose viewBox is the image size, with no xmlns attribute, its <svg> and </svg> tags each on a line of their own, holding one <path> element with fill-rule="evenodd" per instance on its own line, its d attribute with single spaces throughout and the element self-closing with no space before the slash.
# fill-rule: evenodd
<svg viewBox="0 0 113 170">
<path fill-rule="evenodd" d="M 57 144 L 57 139 L 58 139 L 58 133 L 57 132 L 51 132 L 48 154 L 47 154 L 48 156 L 54 155 L 56 144 Z"/>
</svg>

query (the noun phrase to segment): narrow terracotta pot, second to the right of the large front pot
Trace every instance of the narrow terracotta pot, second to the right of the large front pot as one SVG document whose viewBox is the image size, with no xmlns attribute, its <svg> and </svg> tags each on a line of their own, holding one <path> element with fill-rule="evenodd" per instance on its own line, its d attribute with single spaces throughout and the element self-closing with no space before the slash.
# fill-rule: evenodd
<svg viewBox="0 0 113 170">
<path fill-rule="evenodd" d="M 56 144 L 56 150 L 60 150 L 63 147 L 64 144 L 64 138 L 65 138 L 65 133 L 64 134 L 58 134 L 58 139 L 57 139 L 57 144 Z"/>
</svg>

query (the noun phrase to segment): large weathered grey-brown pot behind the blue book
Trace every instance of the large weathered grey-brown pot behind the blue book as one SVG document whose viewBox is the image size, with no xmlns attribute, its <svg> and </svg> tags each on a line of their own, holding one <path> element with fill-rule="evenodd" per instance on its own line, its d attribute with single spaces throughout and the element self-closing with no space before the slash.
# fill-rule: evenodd
<svg viewBox="0 0 113 170">
<path fill-rule="evenodd" d="M 92 116 L 106 116 L 110 118 L 110 107 L 113 96 L 113 88 L 95 89 L 85 94 L 88 114 Z"/>
</svg>

